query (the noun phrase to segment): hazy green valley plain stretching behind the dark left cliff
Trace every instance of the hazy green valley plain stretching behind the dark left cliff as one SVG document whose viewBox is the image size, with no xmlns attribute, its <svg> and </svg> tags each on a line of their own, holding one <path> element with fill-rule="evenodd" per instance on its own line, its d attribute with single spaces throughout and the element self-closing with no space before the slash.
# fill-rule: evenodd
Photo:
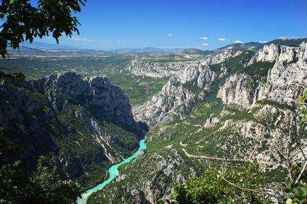
<svg viewBox="0 0 307 204">
<path fill-rule="evenodd" d="M 27 79 L 38 79 L 51 73 L 64 71 L 74 71 L 83 77 L 105 75 L 111 83 L 124 90 L 132 106 L 137 106 L 159 92 L 168 78 L 132 76 L 127 71 L 122 71 L 127 68 L 132 56 L 134 55 L 18 56 L 0 59 L 0 67 L 12 68 L 16 72 L 24 73 Z"/>
</svg>

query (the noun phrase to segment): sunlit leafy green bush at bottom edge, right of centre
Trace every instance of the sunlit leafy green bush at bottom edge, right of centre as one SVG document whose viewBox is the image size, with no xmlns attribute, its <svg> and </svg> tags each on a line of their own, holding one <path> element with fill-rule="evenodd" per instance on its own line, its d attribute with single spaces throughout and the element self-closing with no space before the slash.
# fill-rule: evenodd
<svg viewBox="0 0 307 204">
<path fill-rule="evenodd" d="M 173 204 L 207 204 L 207 203 L 271 203 L 269 198 L 262 196 L 260 188 L 262 173 L 255 163 L 245 166 L 243 172 L 220 169 L 216 174 L 209 167 L 202 176 L 192 176 L 185 184 L 175 184 L 172 193 Z M 270 193 L 263 193 L 270 194 Z M 158 200 L 157 204 L 163 204 Z"/>
</svg>

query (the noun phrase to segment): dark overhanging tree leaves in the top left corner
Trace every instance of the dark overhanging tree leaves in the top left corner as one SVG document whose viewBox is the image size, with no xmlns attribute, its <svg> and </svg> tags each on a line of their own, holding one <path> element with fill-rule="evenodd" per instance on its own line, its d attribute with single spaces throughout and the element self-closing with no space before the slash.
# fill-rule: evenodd
<svg viewBox="0 0 307 204">
<path fill-rule="evenodd" d="M 18 49 L 21 42 L 33 42 L 35 37 L 52 34 L 57 43 L 59 37 L 79 34 L 76 14 L 86 0 L 38 0 L 33 6 L 30 0 L 2 0 L 0 4 L 0 54 L 8 54 L 7 47 Z"/>
</svg>

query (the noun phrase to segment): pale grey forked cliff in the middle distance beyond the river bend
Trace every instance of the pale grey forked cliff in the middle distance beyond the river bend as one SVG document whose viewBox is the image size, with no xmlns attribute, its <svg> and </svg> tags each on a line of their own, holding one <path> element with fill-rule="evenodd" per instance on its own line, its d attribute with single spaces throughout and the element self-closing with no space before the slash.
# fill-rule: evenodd
<svg viewBox="0 0 307 204">
<path fill-rule="evenodd" d="M 216 54 L 216 56 L 210 56 L 204 61 L 168 64 L 143 64 L 134 61 L 129 66 L 129 71 L 132 74 L 154 77 L 171 76 L 161 92 L 154 95 L 149 102 L 134 108 L 135 118 L 151 125 L 180 118 L 192 107 L 196 96 L 191 90 L 185 88 L 185 85 L 190 83 L 190 85 L 203 90 L 202 95 L 197 95 L 197 97 L 204 97 L 203 95 L 210 90 L 212 82 L 216 78 L 216 73 L 212 71 L 210 66 L 242 53 L 242 51 L 227 50 Z M 160 73 L 163 75 L 159 75 Z"/>
</svg>

